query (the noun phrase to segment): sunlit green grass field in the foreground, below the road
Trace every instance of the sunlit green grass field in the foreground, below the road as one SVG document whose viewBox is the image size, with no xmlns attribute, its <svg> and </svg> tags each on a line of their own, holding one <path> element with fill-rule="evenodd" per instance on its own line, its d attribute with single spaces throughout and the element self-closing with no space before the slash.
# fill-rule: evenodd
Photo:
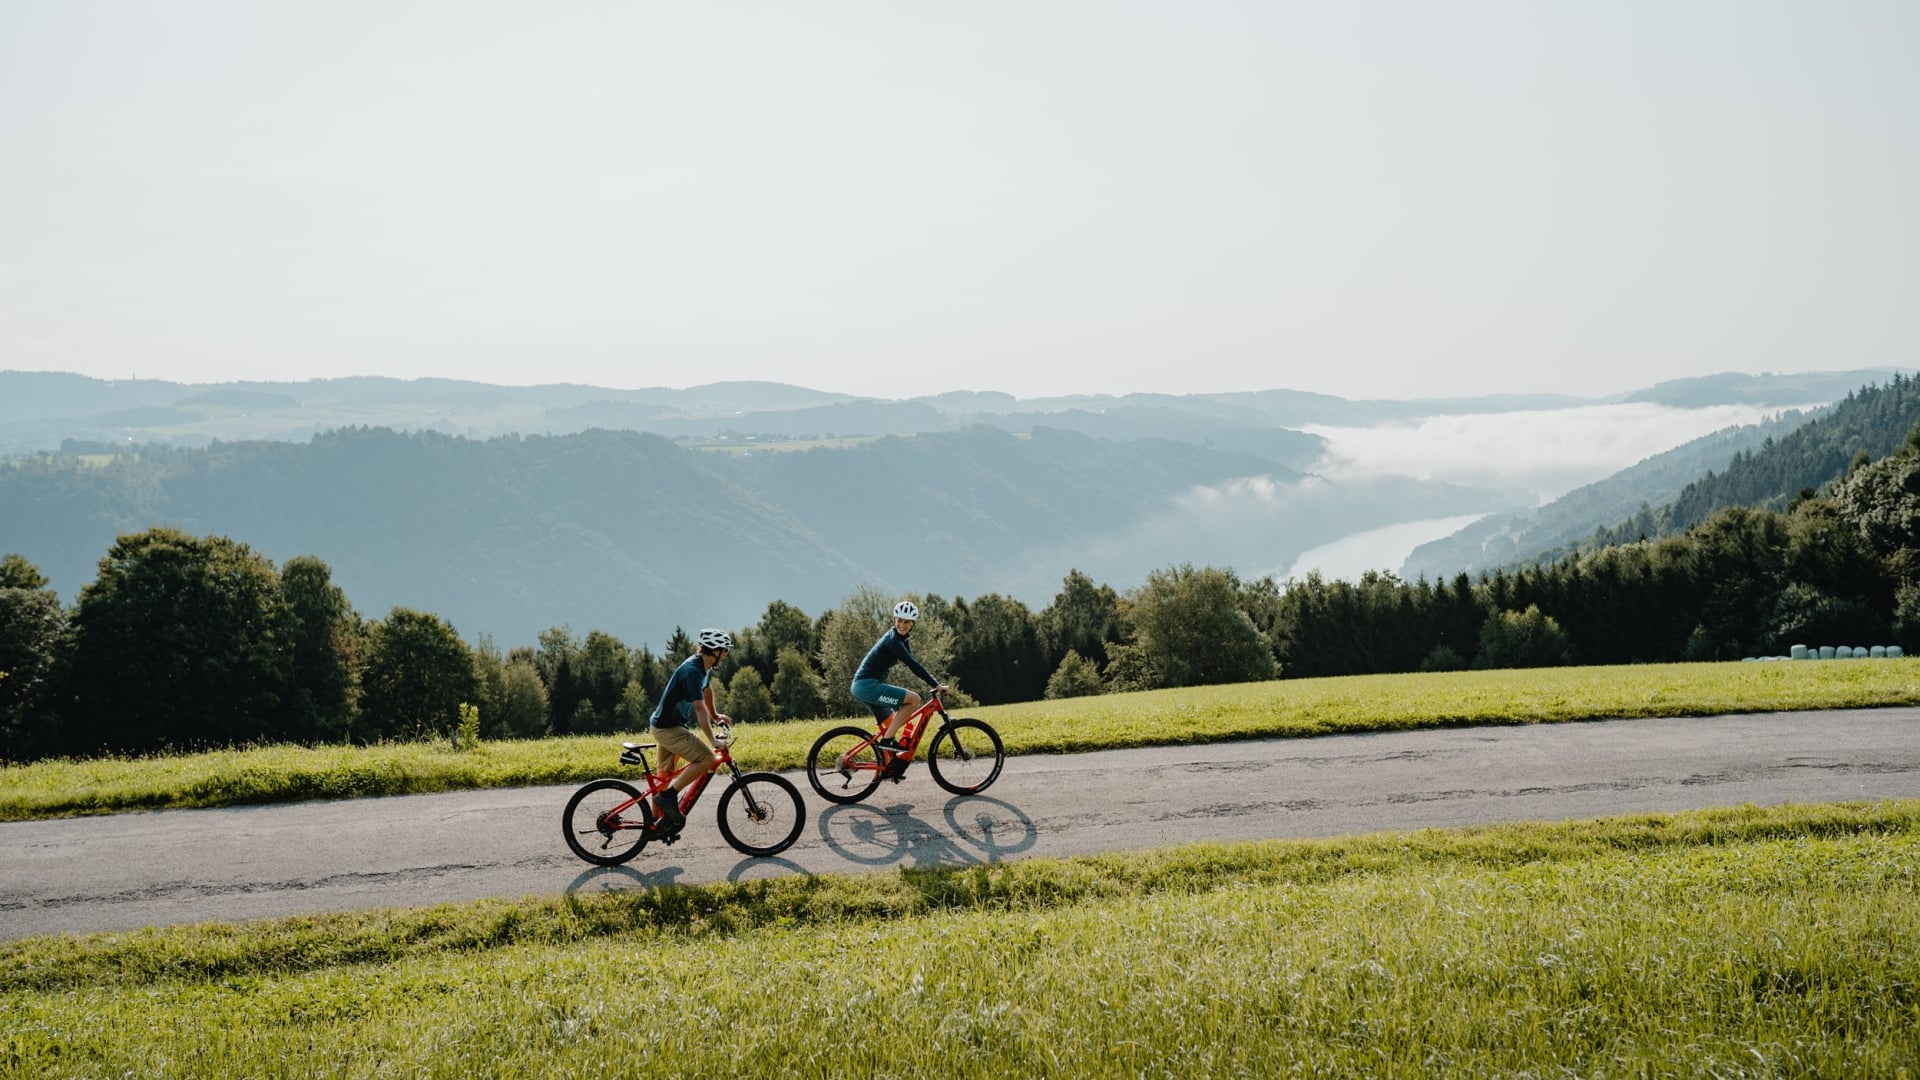
<svg viewBox="0 0 1920 1080">
<path fill-rule="evenodd" d="M 33 938 L 0 1074 L 1920 1076 L 1920 801 Z"/>
</svg>

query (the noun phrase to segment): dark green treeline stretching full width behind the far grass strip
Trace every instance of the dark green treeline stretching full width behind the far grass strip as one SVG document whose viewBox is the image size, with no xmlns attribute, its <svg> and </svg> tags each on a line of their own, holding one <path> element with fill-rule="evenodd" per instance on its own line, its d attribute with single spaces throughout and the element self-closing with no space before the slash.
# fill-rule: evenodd
<svg viewBox="0 0 1920 1080">
<path fill-rule="evenodd" d="M 899 600 L 860 588 L 808 615 L 768 603 L 716 671 L 743 723 L 858 713 L 854 665 Z M 1471 580 L 1242 580 L 1169 567 L 1125 594 L 1075 571 L 1041 609 L 916 596 L 916 651 L 979 703 L 1284 676 L 1736 659 L 1791 644 L 1920 648 L 1920 430 L 1784 509 L 1726 507 L 1678 536 Z M 444 619 L 363 619 L 328 567 L 225 536 L 121 536 L 71 607 L 0 561 L 0 755 L 480 732 L 632 730 L 693 650 L 555 626 L 468 646 Z M 895 682 L 912 684 L 902 671 Z"/>
</svg>

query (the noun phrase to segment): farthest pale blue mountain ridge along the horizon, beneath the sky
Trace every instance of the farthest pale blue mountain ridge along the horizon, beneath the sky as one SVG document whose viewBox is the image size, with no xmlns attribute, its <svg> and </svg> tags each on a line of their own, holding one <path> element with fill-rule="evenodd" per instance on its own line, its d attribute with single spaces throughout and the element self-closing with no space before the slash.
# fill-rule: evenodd
<svg viewBox="0 0 1920 1080">
<path fill-rule="evenodd" d="M 580 384 L 499 386 L 457 379 L 315 379 L 305 382 L 184 384 L 146 379 L 0 371 L 0 454 L 60 450 L 65 442 L 131 446 L 213 440 L 305 440 L 340 427 L 442 430 L 468 438 L 572 434 L 593 427 L 668 438 L 728 434 L 924 434 L 987 423 L 1006 430 L 1062 427 L 1102 438 L 1177 438 L 1261 454 L 1302 467 L 1311 436 L 1263 432 L 1304 425 L 1365 427 L 1430 415 L 1559 409 L 1653 402 L 1809 405 L 1884 380 L 1895 369 L 1676 379 L 1630 394 L 1488 394 L 1478 398 L 1346 400 L 1302 390 L 1231 394 L 1077 394 L 1014 398 L 954 390 L 910 400 L 866 398 L 781 382 L 712 382 L 618 390 Z"/>
</svg>

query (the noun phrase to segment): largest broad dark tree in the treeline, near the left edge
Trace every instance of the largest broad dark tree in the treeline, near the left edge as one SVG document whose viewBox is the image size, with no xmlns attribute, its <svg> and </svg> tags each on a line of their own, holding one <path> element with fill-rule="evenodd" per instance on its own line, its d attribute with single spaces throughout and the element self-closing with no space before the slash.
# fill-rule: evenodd
<svg viewBox="0 0 1920 1080">
<path fill-rule="evenodd" d="M 75 605 L 69 744 L 146 751 L 278 736 L 294 700 L 284 626 L 280 577 L 246 544 L 179 528 L 121 536 Z"/>
</svg>

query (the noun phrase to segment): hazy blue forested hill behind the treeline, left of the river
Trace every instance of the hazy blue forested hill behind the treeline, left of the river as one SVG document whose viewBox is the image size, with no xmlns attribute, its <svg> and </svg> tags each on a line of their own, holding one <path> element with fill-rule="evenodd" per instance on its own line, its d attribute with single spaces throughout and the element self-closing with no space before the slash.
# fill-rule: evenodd
<svg viewBox="0 0 1920 1080">
<path fill-rule="evenodd" d="M 417 607 L 509 644 L 559 625 L 662 642 L 676 625 L 743 625 L 770 600 L 820 611 L 858 584 L 1012 592 L 1010 567 L 1058 586 L 1102 544 L 1154 559 L 1146 567 L 1204 563 L 1217 548 L 1162 552 L 1135 544 L 1137 530 L 1181 519 L 1196 488 L 1300 479 L 1183 442 L 985 427 L 753 455 L 611 430 L 470 440 L 344 429 L 88 461 L 0 467 L 0 552 L 31 559 L 67 600 L 115 534 L 171 525 L 275 561 L 317 555 L 369 615 Z M 1407 505 L 1492 509 L 1486 492 L 1384 484 L 1300 484 L 1313 511 L 1288 519 L 1286 536 L 1206 534 L 1250 536 L 1273 565 Z M 1114 580 L 1125 588 L 1146 567 Z"/>
</svg>

